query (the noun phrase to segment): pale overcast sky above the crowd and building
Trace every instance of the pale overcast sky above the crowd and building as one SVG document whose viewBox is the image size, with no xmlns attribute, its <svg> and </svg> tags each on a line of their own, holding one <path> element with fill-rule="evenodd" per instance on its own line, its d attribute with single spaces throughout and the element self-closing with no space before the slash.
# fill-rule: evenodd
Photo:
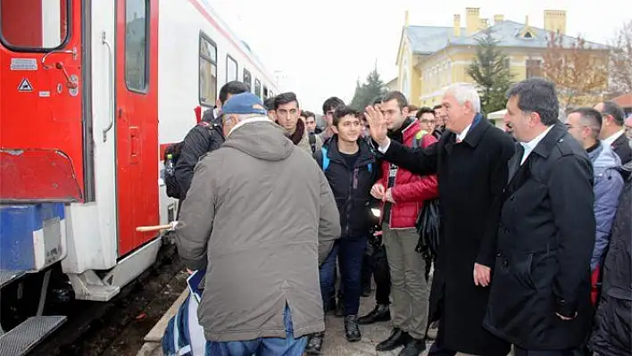
<svg viewBox="0 0 632 356">
<path fill-rule="evenodd" d="M 395 78 L 395 56 L 404 11 L 411 25 L 452 26 L 465 8 L 480 7 L 491 22 L 505 20 L 544 27 L 544 11 L 566 10 L 567 34 L 605 43 L 623 21 L 632 19 L 632 1 L 451 0 L 212 0 L 213 9 L 261 57 L 270 72 L 282 70 L 283 91 L 294 91 L 305 110 L 321 113 L 331 95 L 350 102 L 355 80 L 377 62 L 385 82 Z"/>
</svg>

